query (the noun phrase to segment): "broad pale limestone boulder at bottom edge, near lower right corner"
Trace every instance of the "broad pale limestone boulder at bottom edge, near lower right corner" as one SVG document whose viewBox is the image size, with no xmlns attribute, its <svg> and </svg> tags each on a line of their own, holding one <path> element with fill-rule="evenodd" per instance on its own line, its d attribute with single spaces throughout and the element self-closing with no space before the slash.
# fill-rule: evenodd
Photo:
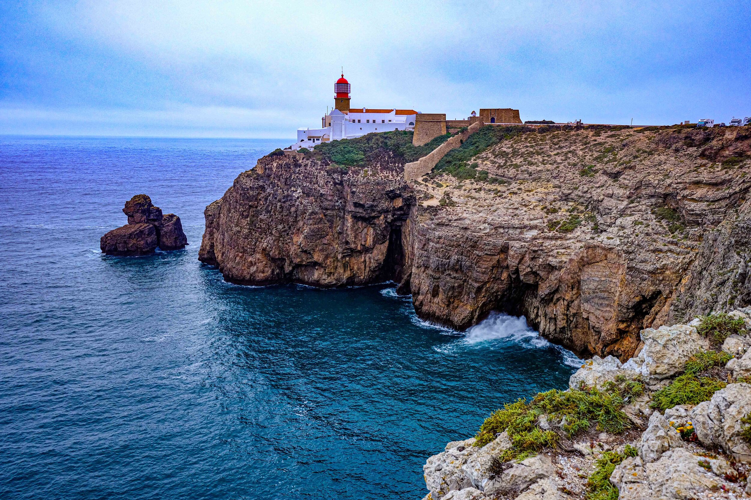
<svg viewBox="0 0 751 500">
<path fill-rule="evenodd" d="M 685 448 L 666 451 L 656 462 L 627 458 L 615 468 L 610 481 L 619 500 L 686 500 L 705 498 L 707 493 L 736 488 L 725 475 L 737 477 L 722 459 L 699 457 Z"/>
</svg>

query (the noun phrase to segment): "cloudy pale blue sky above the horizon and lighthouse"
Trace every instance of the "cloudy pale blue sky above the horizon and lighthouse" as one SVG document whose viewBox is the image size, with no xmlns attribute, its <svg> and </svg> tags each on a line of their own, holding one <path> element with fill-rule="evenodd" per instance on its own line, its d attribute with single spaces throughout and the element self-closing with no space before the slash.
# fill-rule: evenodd
<svg viewBox="0 0 751 500">
<path fill-rule="evenodd" d="M 751 116 L 749 1 L 0 0 L 0 134 L 294 138 L 351 106 Z"/>
</svg>

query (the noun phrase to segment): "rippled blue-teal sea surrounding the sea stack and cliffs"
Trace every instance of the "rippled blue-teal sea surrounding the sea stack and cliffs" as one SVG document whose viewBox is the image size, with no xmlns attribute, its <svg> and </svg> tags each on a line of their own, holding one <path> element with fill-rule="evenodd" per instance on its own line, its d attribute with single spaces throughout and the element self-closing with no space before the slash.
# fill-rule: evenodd
<svg viewBox="0 0 751 500">
<path fill-rule="evenodd" d="M 424 496 L 422 465 L 576 360 L 491 315 L 427 325 L 393 285 L 222 281 L 203 209 L 286 141 L 0 137 L 0 498 Z M 185 250 L 99 252 L 147 193 Z"/>
</svg>

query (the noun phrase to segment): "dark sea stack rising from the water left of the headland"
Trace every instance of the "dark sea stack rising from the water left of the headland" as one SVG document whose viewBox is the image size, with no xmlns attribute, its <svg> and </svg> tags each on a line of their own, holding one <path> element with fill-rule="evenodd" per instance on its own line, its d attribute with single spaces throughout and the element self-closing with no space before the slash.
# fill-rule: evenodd
<svg viewBox="0 0 751 500">
<path fill-rule="evenodd" d="M 178 250 L 188 244 L 182 223 L 175 214 L 161 214 L 151 198 L 137 194 L 125 202 L 123 213 L 128 216 L 125 226 L 113 229 L 101 237 L 103 253 L 117 256 L 140 256 L 161 250 Z"/>
</svg>

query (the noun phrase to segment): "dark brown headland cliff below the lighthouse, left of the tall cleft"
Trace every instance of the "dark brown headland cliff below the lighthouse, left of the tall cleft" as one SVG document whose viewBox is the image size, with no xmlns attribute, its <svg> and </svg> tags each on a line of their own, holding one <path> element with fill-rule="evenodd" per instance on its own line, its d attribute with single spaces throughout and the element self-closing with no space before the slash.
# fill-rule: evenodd
<svg viewBox="0 0 751 500">
<path fill-rule="evenodd" d="M 401 280 L 413 208 L 388 157 L 348 171 L 302 154 L 264 157 L 206 208 L 199 259 L 251 285 Z"/>
</svg>

